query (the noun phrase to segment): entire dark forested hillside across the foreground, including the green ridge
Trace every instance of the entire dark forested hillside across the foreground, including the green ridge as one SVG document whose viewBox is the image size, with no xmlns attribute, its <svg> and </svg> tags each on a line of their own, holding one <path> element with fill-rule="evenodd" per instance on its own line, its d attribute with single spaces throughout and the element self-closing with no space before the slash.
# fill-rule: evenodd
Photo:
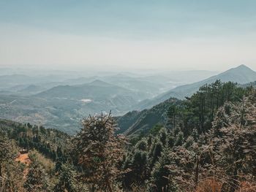
<svg viewBox="0 0 256 192">
<path fill-rule="evenodd" d="M 9 120 L 0 130 L 0 191 L 256 191 L 252 86 L 217 80 L 183 101 L 89 116 L 74 136 Z"/>
</svg>

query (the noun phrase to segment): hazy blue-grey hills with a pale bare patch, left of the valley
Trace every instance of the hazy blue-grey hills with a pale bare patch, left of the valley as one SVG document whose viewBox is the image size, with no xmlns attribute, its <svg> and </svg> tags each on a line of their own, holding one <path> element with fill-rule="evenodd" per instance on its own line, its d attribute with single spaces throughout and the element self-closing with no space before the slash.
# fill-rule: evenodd
<svg viewBox="0 0 256 192">
<path fill-rule="evenodd" d="M 123 115 L 140 95 L 95 80 L 83 85 L 58 85 L 32 96 L 0 95 L 0 118 L 31 122 L 74 133 L 80 119 L 97 112 Z"/>
</svg>

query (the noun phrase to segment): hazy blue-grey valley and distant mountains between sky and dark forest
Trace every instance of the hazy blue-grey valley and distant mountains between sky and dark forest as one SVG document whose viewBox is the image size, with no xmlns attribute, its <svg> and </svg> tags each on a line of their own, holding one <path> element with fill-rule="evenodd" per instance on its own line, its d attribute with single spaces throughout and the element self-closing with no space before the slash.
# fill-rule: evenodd
<svg viewBox="0 0 256 192">
<path fill-rule="evenodd" d="M 80 119 L 100 112 L 121 116 L 144 110 L 170 99 L 191 96 L 201 85 L 222 80 L 238 84 L 256 81 L 256 72 L 241 65 L 217 74 L 211 71 L 178 72 L 75 72 L 15 74 L 4 69 L 0 76 L 0 118 L 29 122 L 75 133 Z M 8 72 L 8 73 L 7 73 Z M 42 73 L 42 72 L 41 72 Z M 87 72 L 88 73 L 88 72 Z M 75 76 L 75 77 L 74 77 Z"/>
</svg>

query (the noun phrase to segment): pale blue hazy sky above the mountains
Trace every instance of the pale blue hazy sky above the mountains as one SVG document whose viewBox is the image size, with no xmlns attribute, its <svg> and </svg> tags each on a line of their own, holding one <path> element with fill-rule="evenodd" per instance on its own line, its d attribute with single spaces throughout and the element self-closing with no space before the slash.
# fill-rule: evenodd
<svg viewBox="0 0 256 192">
<path fill-rule="evenodd" d="M 256 70 L 255 0 L 0 0 L 0 66 Z"/>
</svg>

